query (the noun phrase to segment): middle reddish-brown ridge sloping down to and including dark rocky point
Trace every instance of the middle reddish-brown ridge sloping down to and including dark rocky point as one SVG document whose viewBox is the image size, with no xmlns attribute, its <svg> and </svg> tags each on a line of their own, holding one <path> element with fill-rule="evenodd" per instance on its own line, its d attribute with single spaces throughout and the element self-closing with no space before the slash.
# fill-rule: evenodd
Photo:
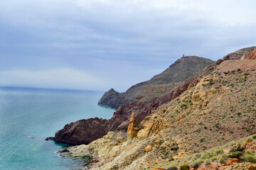
<svg viewBox="0 0 256 170">
<path fill-rule="evenodd" d="M 206 60 L 200 57 L 183 58 L 185 58 L 182 60 L 186 60 L 186 64 L 188 64 L 188 60 L 191 60 L 191 58 L 192 60 Z M 178 64 L 178 61 L 174 64 L 181 66 L 181 64 Z M 183 84 L 179 82 L 145 86 L 133 103 L 127 106 L 119 106 L 110 120 L 99 120 L 98 118 L 78 120 L 75 123 L 65 125 L 62 130 L 58 130 L 55 133 L 55 137 L 49 137 L 48 140 L 55 140 L 56 142 L 70 145 L 89 144 L 106 135 L 109 130 L 127 130 L 132 113 L 136 114 L 136 123 L 141 123 L 147 115 L 151 115 L 160 105 L 173 100 L 183 91 L 186 91 L 191 81 L 193 79 L 190 78 L 184 81 Z"/>
</svg>

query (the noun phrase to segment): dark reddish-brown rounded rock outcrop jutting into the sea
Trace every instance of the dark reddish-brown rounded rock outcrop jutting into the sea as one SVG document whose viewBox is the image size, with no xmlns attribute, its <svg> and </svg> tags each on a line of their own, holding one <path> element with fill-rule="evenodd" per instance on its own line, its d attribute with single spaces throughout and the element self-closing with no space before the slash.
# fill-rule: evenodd
<svg viewBox="0 0 256 170">
<path fill-rule="evenodd" d="M 107 134 L 109 122 L 110 120 L 100 118 L 78 120 L 58 130 L 53 140 L 70 145 L 89 144 Z"/>
</svg>

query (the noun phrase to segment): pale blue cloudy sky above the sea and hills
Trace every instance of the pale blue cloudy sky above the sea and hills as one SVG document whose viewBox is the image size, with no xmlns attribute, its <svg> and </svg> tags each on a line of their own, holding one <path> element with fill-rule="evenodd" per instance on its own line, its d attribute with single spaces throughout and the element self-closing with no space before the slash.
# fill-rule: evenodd
<svg viewBox="0 0 256 170">
<path fill-rule="evenodd" d="M 126 91 L 256 45 L 255 0 L 0 0 L 0 86 Z"/>
</svg>

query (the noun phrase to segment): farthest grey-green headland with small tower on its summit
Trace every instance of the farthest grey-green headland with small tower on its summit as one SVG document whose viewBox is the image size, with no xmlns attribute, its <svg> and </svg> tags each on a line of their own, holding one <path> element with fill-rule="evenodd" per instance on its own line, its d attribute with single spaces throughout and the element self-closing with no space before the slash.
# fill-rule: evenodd
<svg viewBox="0 0 256 170">
<path fill-rule="evenodd" d="M 100 106 L 107 106 L 117 109 L 119 106 L 127 106 L 136 101 L 145 86 L 155 86 L 159 84 L 170 84 L 184 81 L 193 75 L 199 74 L 203 69 L 213 64 L 213 61 L 196 56 L 181 57 L 181 59 L 171 64 L 161 74 L 151 78 L 149 81 L 136 84 L 130 87 L 125 93 L 118 93 L 114 89 L 107 91 L 99 101 Z"/>
</svg>

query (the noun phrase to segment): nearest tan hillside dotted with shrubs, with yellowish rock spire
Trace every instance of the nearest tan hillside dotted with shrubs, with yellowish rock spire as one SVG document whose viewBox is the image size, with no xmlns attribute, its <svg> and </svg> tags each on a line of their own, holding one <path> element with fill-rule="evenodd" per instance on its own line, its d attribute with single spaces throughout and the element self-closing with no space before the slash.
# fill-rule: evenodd
<svg viewBox="0 0 256 170">
<path fill-rule="evenodd" d="M 160 166 L 167 169 L 182 164 L 193 165 L 197 159 L 201 168 L 215 169 L 213 165 L 216 164 L 224 166 L 224 162 L 238 162 L 231 159 L 236 157 L 241 162 L 255 163 L 256 146 L 252 137 L 249 143 L 245 143 L 247 139 L 240 141 L 244 148 L 241 150 L 235 142 L 220 147 L 223 151 L 218 153 L 210 149 L 255 134 L 256 60 L 219 60 L 174 89 L 188 82 L 186 90 L 159 104 L 139 125 L 136 113 L 132 114 L 128 131 L 108 132 L 89 145 L 68 148 L 69 152 L 63 156 L 91 154 L 95 156 L 92 162 L 98 162 L 91 164 L 91 169 L 151 169 Z M 230 156 L 224 157 L 223 153 Z M 215 159 L 211 160 L 212 157 Z M 234 165 L 235 168 L 232 164 L 228 166 L 225 168 L 246 166 L 246 169 L 251 164 L 241 163 Z"/>
</svg>

